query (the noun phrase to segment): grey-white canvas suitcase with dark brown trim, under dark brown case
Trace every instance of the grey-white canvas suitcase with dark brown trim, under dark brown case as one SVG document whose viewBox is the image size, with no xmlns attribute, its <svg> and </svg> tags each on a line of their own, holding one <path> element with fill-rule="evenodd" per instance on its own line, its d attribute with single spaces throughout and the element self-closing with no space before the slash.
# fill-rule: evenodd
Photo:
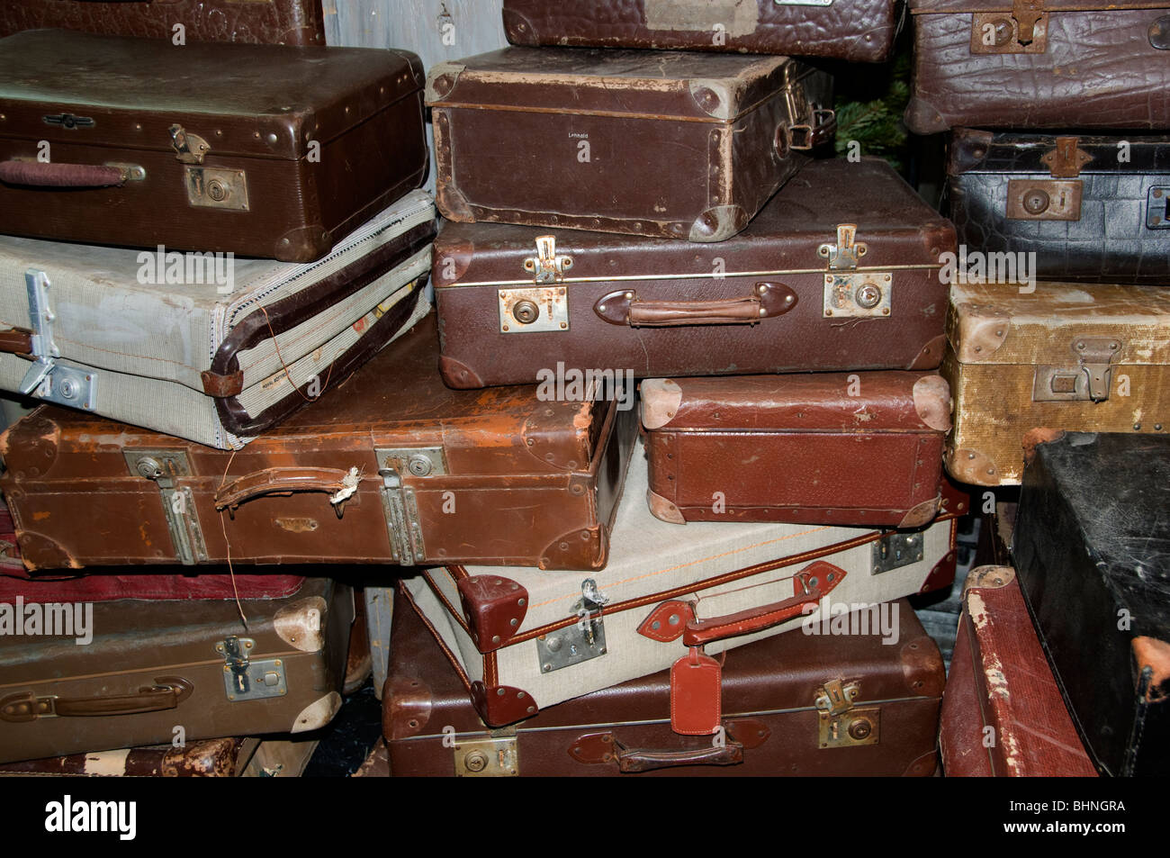
<svg viewBox="0 0 1170 858">
<path fill-rule="evenodd" d="M 0 389 L 239 448 L 426 315 L 434 221 L 412 192 L 310 263 L 0 236 Z"/>
</svg>

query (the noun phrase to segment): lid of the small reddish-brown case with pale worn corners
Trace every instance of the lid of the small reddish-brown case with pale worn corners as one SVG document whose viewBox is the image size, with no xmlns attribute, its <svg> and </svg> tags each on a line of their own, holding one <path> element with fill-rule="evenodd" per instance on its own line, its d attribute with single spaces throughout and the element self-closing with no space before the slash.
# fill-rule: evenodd
<svg viewBox="0 0 1170 858">
<path fill-rule="evenodd" d="M 950 428 L 951 398 L 934 372 L 817 372 L 649 378 L 641 409 L 647 430 L 672 433 L 937 434 Z"/>
</svg>

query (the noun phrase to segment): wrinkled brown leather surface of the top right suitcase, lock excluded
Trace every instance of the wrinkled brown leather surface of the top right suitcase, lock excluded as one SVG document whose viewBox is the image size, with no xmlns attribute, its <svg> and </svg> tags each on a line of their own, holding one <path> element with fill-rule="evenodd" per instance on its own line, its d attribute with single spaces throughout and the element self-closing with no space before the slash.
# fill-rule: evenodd
<svg viewBox="0 0 1170 858">
<path fill-rule="evenodd" d="M 1170 129 L 1170 53 L 1150 23 L 1168 9 L 1048 15 L 1044 54 L 971 54 L 971 15 L 915 16 L 906 124 L 929 135 L 984 128 Z"/>
</svg>

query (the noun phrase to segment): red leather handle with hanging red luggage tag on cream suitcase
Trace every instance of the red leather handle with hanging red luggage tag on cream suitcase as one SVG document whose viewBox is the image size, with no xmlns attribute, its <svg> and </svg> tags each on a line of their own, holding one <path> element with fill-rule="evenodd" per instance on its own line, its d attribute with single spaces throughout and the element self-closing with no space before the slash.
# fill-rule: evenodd
<svg viewBox="0 0 1170 858">
<path fill-rule="evenodd" d="M 845 570 L 817 561 L 793 576 L 797 595 L 760 608 L 710 619 L 695 616 L 694 602 L 669 599 L 641 622 L 638 633 L 669 643 L 682 638 L 687 654 L 670 667 L 670 729 L 688 736 L 713 735 L 722 718 L 722 667 L 703 651 L 706 644 L 770 629 L 808 613 L 845 578 Z"/>
</svg>

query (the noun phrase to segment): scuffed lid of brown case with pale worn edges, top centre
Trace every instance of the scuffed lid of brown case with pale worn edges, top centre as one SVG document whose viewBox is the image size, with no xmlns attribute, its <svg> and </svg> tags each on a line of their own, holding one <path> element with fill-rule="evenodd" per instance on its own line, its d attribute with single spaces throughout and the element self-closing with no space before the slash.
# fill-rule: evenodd
<svg viewBox="0 0 1170 858">
<path fill-rule="evenodd" d="M 811 71 L 785 56 L 511 47 L 433 66 L 426 101 L 441 108 L 725 123 Z"/>
</svg>

